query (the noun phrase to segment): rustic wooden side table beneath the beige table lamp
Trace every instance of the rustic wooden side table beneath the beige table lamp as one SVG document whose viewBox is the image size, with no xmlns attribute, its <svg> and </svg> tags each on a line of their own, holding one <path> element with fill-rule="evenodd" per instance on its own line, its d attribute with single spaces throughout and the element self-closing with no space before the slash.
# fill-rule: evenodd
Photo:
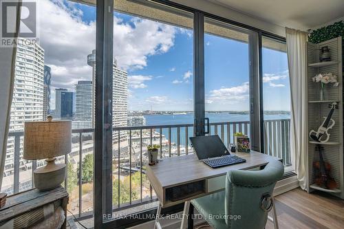
<svg viewBox="0 0 344 229">
<path fill-rule="evenodd" d="M 68 193 L 62 186 L 47 191 L 34 188 L 12 195 L 7 198 L 6 205 L 0 208 L 0 225 L 30 211 L 43 208 L 47 204 L 61 203 L 61 207 L 65 211 L 65 221 L 61 228 L 66 228 L 68 199 Z"/>
</svg>

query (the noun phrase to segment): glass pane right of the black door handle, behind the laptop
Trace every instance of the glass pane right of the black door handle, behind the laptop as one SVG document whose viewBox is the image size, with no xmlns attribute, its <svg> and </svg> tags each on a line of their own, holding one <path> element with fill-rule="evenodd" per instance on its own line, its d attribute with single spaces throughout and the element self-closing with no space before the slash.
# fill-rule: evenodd
<svg viewBox="0 0 344 229">
<path fill-rule="evenodd" d="M 234 133 L 250 137 L 253 32 L 205 18 L 205 115 L 209 134 L 229 146 Z"/>
</svg>

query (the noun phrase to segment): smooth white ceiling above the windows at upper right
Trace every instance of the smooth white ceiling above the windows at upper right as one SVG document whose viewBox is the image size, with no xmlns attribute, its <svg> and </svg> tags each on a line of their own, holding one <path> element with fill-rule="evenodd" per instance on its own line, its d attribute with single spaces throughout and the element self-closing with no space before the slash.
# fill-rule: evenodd
<svg viewBox="0 0 344 229">
<path fill-rule="evenodd" d="M 283 27 L 308 30 L 344 17 L 344 0 L 208 0 Z"/>
</svg>

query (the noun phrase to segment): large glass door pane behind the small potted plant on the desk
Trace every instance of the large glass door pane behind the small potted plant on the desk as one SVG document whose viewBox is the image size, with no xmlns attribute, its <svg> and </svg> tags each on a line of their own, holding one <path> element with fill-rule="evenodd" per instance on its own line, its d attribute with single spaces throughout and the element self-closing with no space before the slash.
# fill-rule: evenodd
<svg viewBox="0 0 344 229">
<path fill-rule="evenodd" d="M 138 212 L 129 206 L 157 206 L 146 175 L 147 146 L 158 145 L 159 158 L 189 153 L 194 113 L 193 14 L 156 3 L 114 3 L 109 198 L 116 219 L 117 212 Z"/>
</svg>

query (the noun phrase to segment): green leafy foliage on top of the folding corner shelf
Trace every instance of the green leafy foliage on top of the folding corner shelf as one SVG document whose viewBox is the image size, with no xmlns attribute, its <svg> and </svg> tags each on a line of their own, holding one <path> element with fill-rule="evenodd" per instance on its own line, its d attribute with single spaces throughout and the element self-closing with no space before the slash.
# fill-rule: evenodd
<svg viewBox="0 0 344 229">
<path fill-rule="evenodd" d="M 311 43 L 316 44 L 334 39 L 338 36 L 344 36 L 344 21 L 338 21 L 333 23 L 332 25 L 327 25 L 323 28 L 313 30 L 310 33 L 308 40 Z"/>
</svg>

